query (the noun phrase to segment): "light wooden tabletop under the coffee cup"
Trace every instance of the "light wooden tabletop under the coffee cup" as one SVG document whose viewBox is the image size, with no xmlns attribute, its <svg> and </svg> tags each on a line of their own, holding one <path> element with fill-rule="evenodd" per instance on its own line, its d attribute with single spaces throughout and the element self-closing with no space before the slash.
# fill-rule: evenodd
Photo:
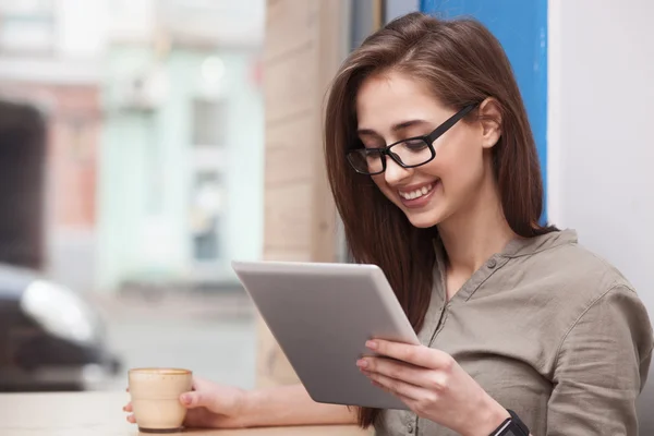
<svg viewBox="0 0 654 436">
<path fill-rule="evenodd" d="M 124 392 L 0 393 L 1 436 L 136 436 L 125 421 Z M 367 436 L 354 426 L 191 429 L 194 436 Z M 142 434 L 143 435 L 143 434 Z"/>
</svg>

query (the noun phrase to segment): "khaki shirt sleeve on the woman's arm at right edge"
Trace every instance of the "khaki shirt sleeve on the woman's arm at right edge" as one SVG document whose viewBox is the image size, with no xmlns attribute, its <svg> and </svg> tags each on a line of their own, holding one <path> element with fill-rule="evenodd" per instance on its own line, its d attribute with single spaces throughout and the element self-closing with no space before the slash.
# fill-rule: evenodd
<svg viewBox="0 0 654 436">
<path fill-rule="evenodd" d="M 595 300 L 561 342 L 547 436 L 638 436 L 635 400 L 652 347 L 652 325 L 633 290 L 616 286 Z"/>
</svg>

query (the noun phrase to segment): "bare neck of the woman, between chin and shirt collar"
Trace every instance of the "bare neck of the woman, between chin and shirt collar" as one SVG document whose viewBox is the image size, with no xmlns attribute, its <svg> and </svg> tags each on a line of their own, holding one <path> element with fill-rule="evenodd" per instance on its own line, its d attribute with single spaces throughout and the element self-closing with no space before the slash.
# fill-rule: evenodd
<svg viewBox="0 0 654 436">
<path fill-rule="evenodd" d="M 438 225 L 448 257 L 447 269 L 457 275 L 472 276 L 517 238 L 505 218 L 496 184 L 483 185 L 468 209 Z"/>
</svg>

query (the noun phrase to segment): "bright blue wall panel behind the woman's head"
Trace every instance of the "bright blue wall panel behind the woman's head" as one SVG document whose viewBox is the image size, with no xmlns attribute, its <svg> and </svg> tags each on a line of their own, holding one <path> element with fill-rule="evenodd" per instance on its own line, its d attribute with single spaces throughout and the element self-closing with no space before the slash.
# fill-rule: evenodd
<svg viewBox="0 0 654 436">
<path fill-rule="evenodd" d="M 421 11 L 473 16 L 499 39 L 526 106 L 547 190 L 547 0 L 421 0 Z"/>
</svg>

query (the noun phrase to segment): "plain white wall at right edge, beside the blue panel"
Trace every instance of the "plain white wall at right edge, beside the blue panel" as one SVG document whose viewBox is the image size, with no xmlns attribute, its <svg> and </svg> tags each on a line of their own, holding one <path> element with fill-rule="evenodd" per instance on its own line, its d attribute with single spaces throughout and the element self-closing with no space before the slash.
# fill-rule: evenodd
<svg viewBox="0 0 654 436">
<path fill-rule="evenodd" d="M 654 1 L 549 0 L 548 209 L 654 319 Z"/>
</svg>

